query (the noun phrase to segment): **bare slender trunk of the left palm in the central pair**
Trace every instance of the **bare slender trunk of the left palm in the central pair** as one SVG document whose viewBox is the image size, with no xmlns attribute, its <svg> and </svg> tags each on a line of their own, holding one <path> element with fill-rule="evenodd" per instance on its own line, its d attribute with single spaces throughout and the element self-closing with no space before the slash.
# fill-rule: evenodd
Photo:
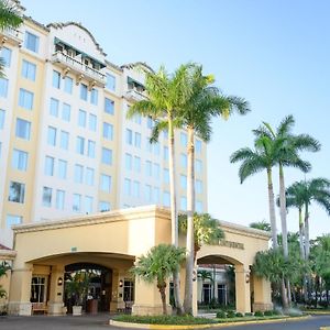
<svg viewBox="0 0 330 330">
<path fill-rule="evenodd" d="M 178 248 L 178 217 L 176 205 L 176 176 L 175 176 L 175 144 L 173 120 L 168 118 L 168 165 L 169 165 L 169 190 L 170 190 L 170 237 L 172 244 Z M 177 315 L 184 312 L 180 301 L 179 270 L 173 273 L 174 301 Z"/>
</svg>

